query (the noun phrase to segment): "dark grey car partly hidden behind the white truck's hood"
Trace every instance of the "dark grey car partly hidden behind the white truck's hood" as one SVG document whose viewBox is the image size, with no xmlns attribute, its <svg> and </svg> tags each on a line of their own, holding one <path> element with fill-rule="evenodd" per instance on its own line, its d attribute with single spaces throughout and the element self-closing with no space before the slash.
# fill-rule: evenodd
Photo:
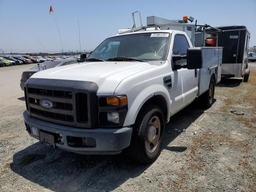
<svg viewBox="0 0 256 192">
<path fill-rule="evenodd" d="M 64 66 L 64 65 L 70 65 L 78 63 L 75 59 L 58 59 L 58 60 L 52 60 L 52 61 L 46 61 L 42 65 L 46 65 L 46 69 Z M 42 70 L 42 66 L 40 66 L 40 70 Z M 34 66 L 30 70 L 24 71 L 21 74 L 21 80 L 20 80 L 20 88 L 24 90 L 24 84 L 25 82 L 36 72 L 38 72 L 38 65 Z"/>
</svg>

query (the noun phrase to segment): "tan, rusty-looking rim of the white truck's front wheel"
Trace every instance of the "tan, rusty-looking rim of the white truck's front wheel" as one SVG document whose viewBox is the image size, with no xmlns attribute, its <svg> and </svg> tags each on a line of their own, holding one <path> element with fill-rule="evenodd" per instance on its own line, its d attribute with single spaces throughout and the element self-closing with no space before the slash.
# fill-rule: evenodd
<svg viewBox="0 0 256 192">
<path fill-rule="evenodd" d="M 158 116 L 153 116 L 148 122 L 146 132 L 146 148 L 148 152 L 152 153 L 156 150 L 161 134 L 161 122 Z"/>
</svg>

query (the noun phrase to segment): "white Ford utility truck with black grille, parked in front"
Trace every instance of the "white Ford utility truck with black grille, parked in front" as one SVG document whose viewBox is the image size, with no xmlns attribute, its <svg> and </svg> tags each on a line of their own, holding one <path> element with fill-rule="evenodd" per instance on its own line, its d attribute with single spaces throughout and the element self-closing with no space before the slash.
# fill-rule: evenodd
<svg viewBox="0 0 256 192">
<path fill-rule="evenodd" d="M 212 105 L 222 48 L 193 48 L 179 30 L 146 30 L 107 38 L 85 58 L 26 82 L 28 134 L 53 148 L 80 154 L 126 150 L 149 163 L 160 152 L 170 116 L 196 97 Z"/>
</svg>

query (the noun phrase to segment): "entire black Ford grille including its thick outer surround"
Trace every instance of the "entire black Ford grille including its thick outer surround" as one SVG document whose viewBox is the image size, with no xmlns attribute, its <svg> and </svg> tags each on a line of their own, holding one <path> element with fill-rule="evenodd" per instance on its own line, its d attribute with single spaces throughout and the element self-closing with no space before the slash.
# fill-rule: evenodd
<svg viewBox="0 0 256 192">
<path fill-rule="evenodd" d="M 30 116 L 64 126 L 98 126 L 98 86 L 94 82 L 29 78 L 25 96 Z M 48 105 L 41 106 L 48 102 Z M 47 108 L 48 107 L 48 108 Z"/>
</svg>

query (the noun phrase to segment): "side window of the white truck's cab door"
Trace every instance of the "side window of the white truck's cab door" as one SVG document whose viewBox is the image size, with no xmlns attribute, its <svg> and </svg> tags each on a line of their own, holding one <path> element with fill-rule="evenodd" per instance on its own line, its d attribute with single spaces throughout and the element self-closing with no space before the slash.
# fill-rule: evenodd
<svg viewBox="0 0 256 192">
<path fill-rule="evenodd" d="M 173 55 L 186 55 L 188 48 L 189 44 L 184 35 L 174 36 L 174 43 L 172 48 Z"/>
</svg>

